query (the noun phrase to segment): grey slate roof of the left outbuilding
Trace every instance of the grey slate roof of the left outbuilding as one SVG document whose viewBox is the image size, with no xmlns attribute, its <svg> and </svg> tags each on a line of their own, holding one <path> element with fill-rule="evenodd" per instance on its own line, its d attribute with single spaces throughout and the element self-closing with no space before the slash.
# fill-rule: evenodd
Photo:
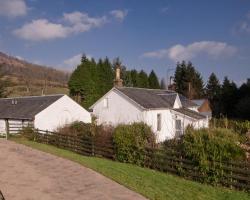
<svg viewBox="0 0 250 200">
<path fill-rule="evenodd" d="M 60 95 L 0 99 L 0 119 L 33 120 L 35 115 L 60 99 Z M 16 101 L 16 104 L 13 102 Z"/>
</svg>

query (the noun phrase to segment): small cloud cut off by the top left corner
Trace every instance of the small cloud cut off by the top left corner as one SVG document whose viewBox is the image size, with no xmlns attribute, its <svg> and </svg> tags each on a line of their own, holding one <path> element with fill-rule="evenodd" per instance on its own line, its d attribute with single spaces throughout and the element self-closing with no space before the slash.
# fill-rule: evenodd
<svg viewBox="0 0 250 200">
<path fill-rule="evenodd" d="M 0 0 L 0 15 L 18 17 L 27 14 L 28 7 L 24 0 Z"/>
</svg>

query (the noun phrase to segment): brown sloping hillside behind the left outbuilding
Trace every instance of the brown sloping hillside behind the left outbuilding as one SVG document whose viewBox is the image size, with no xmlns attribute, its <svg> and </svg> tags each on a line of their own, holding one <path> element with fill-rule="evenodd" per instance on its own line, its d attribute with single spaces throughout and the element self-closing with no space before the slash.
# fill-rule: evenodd
<svg viewBox="0 0 250 200">
<path fill-rule="evenodd" d="M 0 52 L 1 79 L 7 96 L 68 93 L 69 73 L 29 63 Z"/>
</svg>

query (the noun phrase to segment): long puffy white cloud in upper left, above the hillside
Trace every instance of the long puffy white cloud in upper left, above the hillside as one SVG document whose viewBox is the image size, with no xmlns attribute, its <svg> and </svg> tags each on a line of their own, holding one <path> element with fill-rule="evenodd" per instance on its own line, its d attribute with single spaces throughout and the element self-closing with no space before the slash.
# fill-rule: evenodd
<svg viewBox="0 0 250 200">
<path fill-rule="evenodd" d="M 65 13 L 62 23 L 53 23 L 47 19 L 33 20 L 13 31 L 19 38 L 30 41 L 65 38 L 72 34 L 83 33 L 106 23 L 106 17 L 89 17 L 86 13 Z"/>
</svg>

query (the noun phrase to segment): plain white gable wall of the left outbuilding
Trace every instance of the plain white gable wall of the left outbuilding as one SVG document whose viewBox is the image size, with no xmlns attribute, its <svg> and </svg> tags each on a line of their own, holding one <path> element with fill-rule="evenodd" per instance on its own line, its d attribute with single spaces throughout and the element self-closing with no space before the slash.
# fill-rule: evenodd
<svg viewBox="0 0 250 200">
<path fill-rule="evenodd" d="M 35 116 L 34 127 L 55 131 L 74 121 L 91 123 L 91 115 L 70 97 L 64 95 Z"/>
</svg>

